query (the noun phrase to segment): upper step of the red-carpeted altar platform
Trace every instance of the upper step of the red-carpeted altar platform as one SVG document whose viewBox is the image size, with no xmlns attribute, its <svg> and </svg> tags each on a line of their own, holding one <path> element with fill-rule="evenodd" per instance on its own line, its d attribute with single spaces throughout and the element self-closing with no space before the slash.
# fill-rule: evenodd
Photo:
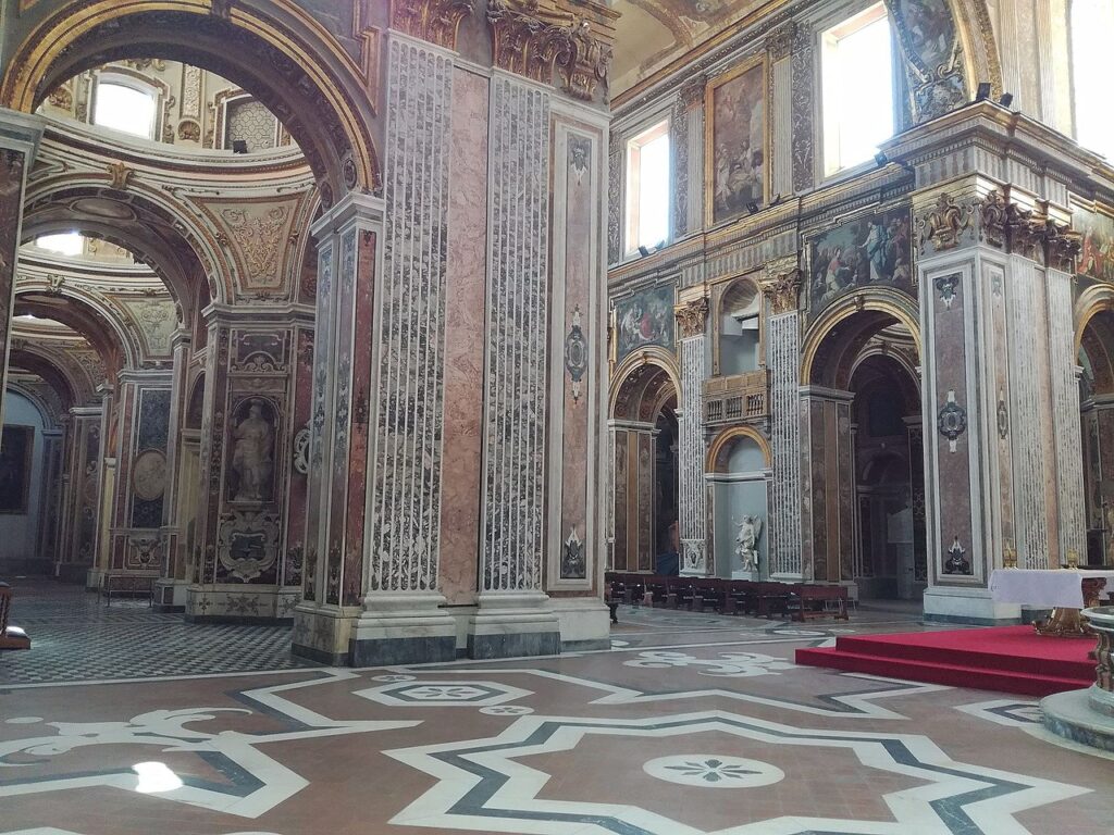
<svg viewBox="0 0 1114 835">
<path fill-rule="evenodd" d="M 844 636 L 836 649 L 857 656 L 945 664 L 1035 676 L 1094 678 L 1095 662 L 1086 654 L 1094 639 L 1046 638 L 1032 627 L 969 629 L 902 636 Z"/>
</svg>

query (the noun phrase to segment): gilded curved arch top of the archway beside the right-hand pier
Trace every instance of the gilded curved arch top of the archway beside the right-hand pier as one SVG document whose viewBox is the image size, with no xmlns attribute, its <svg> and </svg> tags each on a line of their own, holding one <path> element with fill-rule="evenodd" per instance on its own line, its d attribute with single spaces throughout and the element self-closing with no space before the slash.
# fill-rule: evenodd
<svg viewBox="0 0 1114 835">
<path fill-rule="evenodd" d="M 817 380 L 817 360 L 820 346 L 830 335 L 836 333 L 840 325 L 846 325 L 853 316 L 860 316 L 854 328 L 858 332 L 854 334 L 856 340 L 859 341 L 858 347 L 862 347 L 867 338 L 885 327 L 887 321 L 896 321 L 909 331 L 917 356 L 924 356 L 920 323 L 912 301 L 895 291 L 880 288 L 863 291 L 841 299 L 824 311 L 805 334 L 804 343 L 801 346 L 802 384 L 819 382 Z M 844 345 L 850 345 L 856 340 L 844 342 Z M 833 365 L 839 367 L 839 357 L 827 357 L 824 367 Z M 850 365 L 844 365 L 842 376 L 846 376 L 846 380 L 842 387 L 847 387 L 847 380 L 850 379 L 849 372 Z M 831 387 L 840 386 L 832 385 Z"/>
</svg>

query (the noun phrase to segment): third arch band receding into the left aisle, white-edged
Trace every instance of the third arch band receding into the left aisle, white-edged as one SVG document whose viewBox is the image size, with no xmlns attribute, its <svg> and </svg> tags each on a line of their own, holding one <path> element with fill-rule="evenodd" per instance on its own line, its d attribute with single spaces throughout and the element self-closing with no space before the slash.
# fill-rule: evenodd
<svg viewBox="0 0 1114 835">
<path fill-rule="evenodd" d="M 77 332 L 100 355 L 105 371 L 115 375 L 124 367 L 139 367 L 141 353 L 119 316 L 98 299 L 68 287 L 49 291 L 35 284 L 16 289 L 16 316 L 32 315 L 60 322 Z"/>
</svg>

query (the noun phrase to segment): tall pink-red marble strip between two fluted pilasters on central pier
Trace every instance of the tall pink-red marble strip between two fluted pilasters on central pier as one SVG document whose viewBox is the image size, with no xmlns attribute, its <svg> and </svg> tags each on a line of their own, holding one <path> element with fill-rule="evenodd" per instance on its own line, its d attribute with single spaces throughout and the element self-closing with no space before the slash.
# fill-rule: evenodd
<svg viewBox="0 0 1114 835">
<path fill-rule="evenodd" d="M 452 99 L 438 572 L 450 603 L 470 603 L 479 561 L 487 213 L 478 200 L 488 180 L 487 79 L 458 69 Z"/>
</svg>

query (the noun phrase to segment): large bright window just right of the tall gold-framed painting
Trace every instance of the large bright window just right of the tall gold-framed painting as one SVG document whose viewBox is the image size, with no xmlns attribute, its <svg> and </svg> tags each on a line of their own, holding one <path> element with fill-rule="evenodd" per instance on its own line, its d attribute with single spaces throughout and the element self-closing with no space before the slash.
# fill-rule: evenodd
<svg viewBox="0 0 1114 835">
<path fill-rule="evenodd" d="M 893 57 L 886 4 L 821 36 L 824 176 L 866 163 L 893 136 Z"/>
</svg>

